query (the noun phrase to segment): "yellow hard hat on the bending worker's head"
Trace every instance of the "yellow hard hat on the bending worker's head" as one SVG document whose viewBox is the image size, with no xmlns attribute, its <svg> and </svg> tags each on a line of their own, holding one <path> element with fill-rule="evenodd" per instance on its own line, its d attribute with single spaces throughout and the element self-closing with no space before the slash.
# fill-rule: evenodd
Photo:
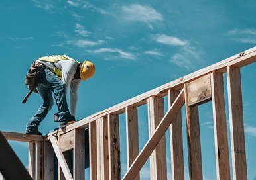
<svg viewBox="0 0 256 180">
<path fill-rule="evenodd" d="M 83 81 L 86 81 L 86 79 L 94 76 L 94 73 L 95 73 L 94 64 L 88 60 L 85 60 L 81 65 L 80 78 Z"/>
</svg>

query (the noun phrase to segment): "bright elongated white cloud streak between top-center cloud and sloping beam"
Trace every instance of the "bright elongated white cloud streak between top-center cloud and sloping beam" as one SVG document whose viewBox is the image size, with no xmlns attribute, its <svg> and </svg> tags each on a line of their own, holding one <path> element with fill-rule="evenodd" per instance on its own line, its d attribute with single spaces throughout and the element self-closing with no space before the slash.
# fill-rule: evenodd
<svg viewBox="0 0 256 180">
<path fill-rule="evenodd" d="M 167 36 L 166 34 L 156 34 L 152 37 L 153 40 L 159 42 L 160 44 L 166 44 L 168 46 L 188 46 L 187 40 L 181 40 L 180 38 L 174 36 Z"/>
</svg>

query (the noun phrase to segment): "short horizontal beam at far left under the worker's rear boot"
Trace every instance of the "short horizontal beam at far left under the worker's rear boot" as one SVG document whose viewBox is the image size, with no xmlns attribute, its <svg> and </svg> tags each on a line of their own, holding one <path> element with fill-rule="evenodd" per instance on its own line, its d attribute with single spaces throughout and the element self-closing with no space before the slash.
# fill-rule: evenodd
<svg viewBox="0 0 256 180">
<path fill-rule="evenodd" d="M 40 142 L 44 140 L 44 138 L 40 135 L 23 134 L 18 132 L 5 132 L 5 131 L 1 131 L 1 132 L 7 140 L 15 140 L 15 141 L 23 141 L 23 142 L 30 142 L 30 141 Z"/>
</svg>

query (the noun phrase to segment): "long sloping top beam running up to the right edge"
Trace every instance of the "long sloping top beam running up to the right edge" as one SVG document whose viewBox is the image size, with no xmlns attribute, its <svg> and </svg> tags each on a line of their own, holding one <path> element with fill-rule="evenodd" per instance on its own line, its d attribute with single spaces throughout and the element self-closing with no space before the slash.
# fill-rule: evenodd
<svg viewBox="0 0 256 180">
<path fill-rule="evenodd" d="M 97 120 L 103 116 L 107 116 L 107 114 L 121 114 L 121 113 L 125 112 L 126 107 L 139 107 L 140 105 L 147 103 L 147 98 L 149 98 L 149 97 L 164 96 L 164 95 L 166 95 L 166 93 L 169 89 L 175 89 L 175 88 L 182 89 L 182 87 L 184 86 L 185 83 L 194 81 L 195 79 L 198 79 L 198 78 L 200 78 L 204 75 L 210 74 L 212 72 L 225 73 L 227 64 L 232 64 L 232 62 L 235 62 L 235 64 L 237 66 L 239 64 L 243 65 L 243 62 L 245 62 L 247 59 L 250 59 L 250 61 L 249 61 L 250 63 L 255 62 L 256 47 L 253 47 L 249 50 L 245 50 L 244 56 L 235 54 L 234 56 L 231 56 L 229 58 L 226 58 L 225 60 L 222 60 L 220 62 L 212 64 L 211 66 L 200 69 L 194 73 L 190 73 L 189 75 L 185 75 L 184 77 L 178 78 L 174 81 L 170 81 L 169 83 L 161 85 L 160 87 L 152 89 L 151 91 L 147 91 L 146 93 L 143 93 L 141 95 L 137 95 L 136 97 L 133 97 L 127 101 L 123 101 L 123 103 L 119 103 L 117 105 L 114 105 L 113 107 L 109 107 L 108 109 L 105 109 L 103 111 L 92 114 L 91 116 L 83 118 L 82 120 L 80 120 L 74 124 L 70 124 L 69 126 L 67 126 L 65 128 L 64 131 L 58 130 L 58 132 L 56 131 L 54 133 L 63 134 L 63 133 L 68 132 L 74 128 L 86 128 L 86 127 L 88 127 L 89 122 Z M 46 138 L 46 140 L 48 140 L 50 138 L 50 135 L 46 135 L 44 138 Z"/>
</svg>

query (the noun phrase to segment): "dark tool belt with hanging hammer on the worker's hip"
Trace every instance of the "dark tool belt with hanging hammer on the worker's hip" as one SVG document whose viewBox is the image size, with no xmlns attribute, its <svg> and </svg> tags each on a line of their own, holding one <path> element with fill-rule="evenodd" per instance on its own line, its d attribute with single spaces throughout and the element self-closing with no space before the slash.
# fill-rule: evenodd
<svg viewBox="0 0 256 180">
<path fill-rule="evenodd" d="M 36 87 L 42 83 L 42 68 L 44 65 L 40 62 L 32 62 L 27 75 L 25 75 L 25 86 L 29 89 L 29 93 L 25 96 L 21 103 L 26 103 L 32 92 L 38 93 Z"/>
</svg>

